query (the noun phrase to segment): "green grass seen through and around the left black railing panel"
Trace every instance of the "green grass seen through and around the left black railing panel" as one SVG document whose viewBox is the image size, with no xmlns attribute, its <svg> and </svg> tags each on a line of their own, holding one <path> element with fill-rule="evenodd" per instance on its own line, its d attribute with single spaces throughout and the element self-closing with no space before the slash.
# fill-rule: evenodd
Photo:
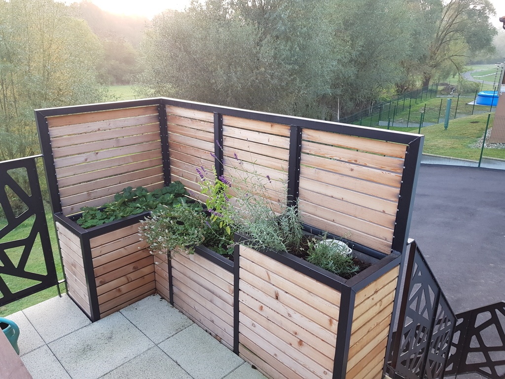
<svg viewBox="0 0 505 379">
<path fill-rule="evenodd" d="M 63 278 L 63 271 L 61 267 L 60 253 L 58 250 L 53 218 L 49 212 L 46 213 L 46 219 L 49 228 L 49 237 L 51 238 L 51 246 L 53 248 L 53 256 L 56 264 L 56 272 L 58 274 L 58 278 L 61 279 Z M 22 238 L 26 238 L 26 236 L 30 232 L 32 222 L 33 218 L 30 218 L 27 221 L 25 221 L 15 230 L 9 233 L 6 236 L 5 241 L 16 241 Z M 5 225 L 7 225 L 7 220 L 0 219 L 0 228 L 3 228 Z M 9 258 L 13 262 L 16 262 L 16 259 L 19 260 L 19 257 L 21 256 L 21 249 L 17 248 L 12 250 L 9 249 L 6 253 L 9 255 Z M 33 250 L 27 262 L 26 269 L 36 273 L 42 273 L 42 274 L 46 273 L 44 257 L 42 254 L 42 246 L 40 245 L 40 242 L 38 240 L 35 242 L 33 246 Z M 27 281 L 26 279 L 16 278 L 13 276 L 6 277 L 3 275 L 3 277 L 12 291 L 20 291 L 30 286 L 30 280 Z M 61 286 L 61 288 L 62 291 L 65 291 L 64 286 Z M 0 316 L 7 316 L 9 314 L 28 308 L 32 305 L 38 304 L 44 300 L 50 299 L 55 296 L 58 296 L 57 288 L 56 287 L 49 288 L 47 290 L 38 292 L 24 299 L 0 307 Z"/>
</svg>

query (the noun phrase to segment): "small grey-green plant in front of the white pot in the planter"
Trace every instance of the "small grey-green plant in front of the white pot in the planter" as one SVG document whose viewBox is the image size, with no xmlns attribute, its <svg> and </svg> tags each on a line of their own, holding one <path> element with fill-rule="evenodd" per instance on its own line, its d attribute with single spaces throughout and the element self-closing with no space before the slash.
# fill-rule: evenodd
<svg viewBox="0 0 505 379">
<path fill-rule="evenodd" d="M 346 236 L 350 236 L 350 233 Z M 324 234 L 322 241 L 319 239 L 309 241 L 307 261 L 342 277 L 356 274 L 360 266 L 355 264 L 352 256 L 346 253 L 346 245 L 325 243 L 326 237 L 327 235 Z M 337 241 L 342 241 L 342 239 Z"/>
</svg>

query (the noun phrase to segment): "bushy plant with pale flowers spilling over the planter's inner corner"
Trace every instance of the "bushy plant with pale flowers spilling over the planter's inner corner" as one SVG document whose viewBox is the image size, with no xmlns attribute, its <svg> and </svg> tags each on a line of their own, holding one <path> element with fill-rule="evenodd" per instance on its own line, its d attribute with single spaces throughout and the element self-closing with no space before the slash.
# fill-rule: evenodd
<svg viewBox="0 0 505 379">
<path fill-rule="evenodd" d="M 151 254 L 167 254 L 171 259 L 180 251 L 194 253 L 194 246 L 205 240 L 207 216 L 199 203 L 159 205 L 149 217 L 141 220 L 141 239 Z"/>
</svg>

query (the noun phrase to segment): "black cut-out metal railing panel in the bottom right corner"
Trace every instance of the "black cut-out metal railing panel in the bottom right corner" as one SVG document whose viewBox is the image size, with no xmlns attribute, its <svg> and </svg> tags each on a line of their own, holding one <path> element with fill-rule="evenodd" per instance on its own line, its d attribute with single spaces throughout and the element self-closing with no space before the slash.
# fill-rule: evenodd
<svg viewBox="0 0 505 379">
<path fill-rule="evenodd" d="M 457 315 L 446 375 L 505 378 L 505 302 Z"/>
</svg>

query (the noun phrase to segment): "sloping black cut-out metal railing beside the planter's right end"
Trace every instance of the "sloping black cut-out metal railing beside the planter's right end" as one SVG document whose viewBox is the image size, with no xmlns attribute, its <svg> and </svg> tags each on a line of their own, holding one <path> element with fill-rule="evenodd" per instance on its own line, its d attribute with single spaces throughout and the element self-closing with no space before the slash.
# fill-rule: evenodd
<svg viewBox="0 0 505 379">
<path fill-rule="evenodd" d="M 405 277 L 388 373 L 395 378 L 442 379 L 456 316 L 415 242 Z"/>
</svg>

